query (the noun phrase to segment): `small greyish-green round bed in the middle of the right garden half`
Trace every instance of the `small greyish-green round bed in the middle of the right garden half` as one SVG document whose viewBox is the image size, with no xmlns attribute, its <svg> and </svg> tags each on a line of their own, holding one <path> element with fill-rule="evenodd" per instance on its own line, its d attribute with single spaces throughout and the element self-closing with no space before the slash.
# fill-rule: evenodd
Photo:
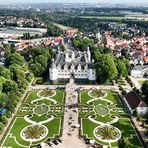
<svg viewBox="0 0 148 148">
<path fill-rule="evenodd" d="M 109 109 L 107 107 L 103 106 L 102 104 L 97 105 L 94 108 L 94 111 L 100 116 L 105 116 L 106 114 L 109 113 Z"/>
</svg>

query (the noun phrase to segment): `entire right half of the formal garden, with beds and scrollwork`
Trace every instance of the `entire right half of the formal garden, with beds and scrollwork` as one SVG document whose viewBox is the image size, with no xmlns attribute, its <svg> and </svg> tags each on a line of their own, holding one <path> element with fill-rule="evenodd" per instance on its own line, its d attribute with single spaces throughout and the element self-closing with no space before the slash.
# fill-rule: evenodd
<svg viewBox="0 0 148 148">
<path fill-rule="evenodd" d="M 120 139 L 125 138 L 130 142 L 131 148 L 142 147 L 129 115 L 116 92 L 82 91 L 79 94 L 79 119 L 80 135 L 95 140 L 100 145 L 117 147 Z"/>
</svg>

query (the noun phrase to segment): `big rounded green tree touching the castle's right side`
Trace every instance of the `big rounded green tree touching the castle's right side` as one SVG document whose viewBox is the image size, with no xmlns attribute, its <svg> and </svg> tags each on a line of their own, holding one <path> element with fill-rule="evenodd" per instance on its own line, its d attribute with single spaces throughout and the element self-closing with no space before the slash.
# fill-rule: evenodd
<svg viewBox="0 0 148 148">
<path fill-rule="evenodd" d="M 96 72 L 99 82 L 117 78 L 117 68 L 112 55 L 102 54 L 96 59 Z"/>
</svg>

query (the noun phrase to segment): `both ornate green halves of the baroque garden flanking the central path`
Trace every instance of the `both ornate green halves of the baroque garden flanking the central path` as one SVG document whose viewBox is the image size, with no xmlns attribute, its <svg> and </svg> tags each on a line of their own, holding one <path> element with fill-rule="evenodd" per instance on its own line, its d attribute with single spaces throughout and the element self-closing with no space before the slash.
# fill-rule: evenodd
<svg viewBox="0 0 148 148">
<path fill-rule="evenodd" d="M 28 92 L 2 147 L 27 148 L 62 137 L 65 108 L 63 90 Z M 117 147 L 119 141 L 125 138 L 130 141 L 131 146 L 142 147 L 117 93 L 103 89 L 80 91 L 78 113 L 80 137 L 111 147 Z"/>
</svg>

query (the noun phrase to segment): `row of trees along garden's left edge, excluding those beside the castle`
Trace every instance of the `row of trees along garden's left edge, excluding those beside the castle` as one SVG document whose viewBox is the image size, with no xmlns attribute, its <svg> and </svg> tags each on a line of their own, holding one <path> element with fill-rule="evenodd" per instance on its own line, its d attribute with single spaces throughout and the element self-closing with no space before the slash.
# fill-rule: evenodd
<svg viewBox="0 0 148 148">
<path fill-rule="evenodd" d="M 5 48 L 6 63 L 0 66 L 0 108 L 6 109 L 6 112 L 0 115 L 0 132 L 33 78 L 24 57 L 10 46 Z"/>
</svg>

